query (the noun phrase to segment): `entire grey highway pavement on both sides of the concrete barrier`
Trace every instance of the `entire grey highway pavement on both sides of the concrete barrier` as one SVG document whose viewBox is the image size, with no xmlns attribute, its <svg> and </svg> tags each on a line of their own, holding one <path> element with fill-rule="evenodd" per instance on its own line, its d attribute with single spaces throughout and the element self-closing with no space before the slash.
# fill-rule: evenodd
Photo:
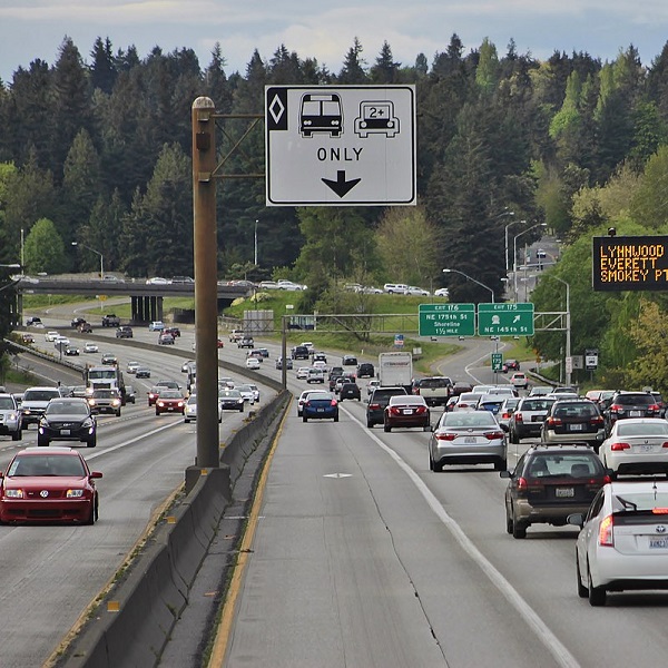
<svg viewBox="0 0 668 668">
<path fill-rule="evenodd" d="M 178 343 L 184 358 L 188 336 Z M 491 381 L 483 360 L 494 343 L 461 343 L 439 371 Z M 267 347 L 263 373 L 278 377 L 277 346 Z M 127 347 L 109 350 L 129 358 Z M 244 352 L 226 343 L 223 355 L 240 361 Z M 179 357 L 157 347 L 149 357 L 158 374 L 183 377 Z M 288 383 L 295 394 L 307 386 L 294 372 Z M 102 418 L 98 448 L 85 452 L 105 473 L 97 525 L 0 527 L 3 668 L 40 665 L 183 481 L 195 430 L 138 402 L 120 419 Z M 28 434 L 23 444 L 35 430 Z M 415 430 L 366 429 L 363 402 L 343 402 L 336 424 L 304 424 L 291 406 L 212 666 L 662 665 L 668 595 L 610 595 L 592 609 L 576 593 L 576 529 L 532 527 L 514 540 L 505 533 L 505 481 L 485 465 L 430 472 L 428 440 Z M 13 444 L 1 445 L 4 465 Z M 509 445 L 509 466 L 528 446 Z M 205 628 L 204 639 L 214 631 Z M 185 646 L 200 640 L 177 627 L 160 666 L 200 666 L 184 660 L 197 655 Z"/>
</svg>

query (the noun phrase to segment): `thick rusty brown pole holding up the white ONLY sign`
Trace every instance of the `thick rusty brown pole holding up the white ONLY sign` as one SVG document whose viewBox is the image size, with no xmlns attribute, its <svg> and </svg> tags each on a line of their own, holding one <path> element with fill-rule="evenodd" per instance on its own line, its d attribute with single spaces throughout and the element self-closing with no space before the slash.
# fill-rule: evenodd
<svg viewBox="0 0 668 668">
<path fill-rule="evenodd" d="M 197 365 L 197 461 L 219 466 L 218 285 L 216 239 L 216 107 L 207 97 L 193 102 L 193 213 L 195 239 L 195 360 Z"/>
</svg>

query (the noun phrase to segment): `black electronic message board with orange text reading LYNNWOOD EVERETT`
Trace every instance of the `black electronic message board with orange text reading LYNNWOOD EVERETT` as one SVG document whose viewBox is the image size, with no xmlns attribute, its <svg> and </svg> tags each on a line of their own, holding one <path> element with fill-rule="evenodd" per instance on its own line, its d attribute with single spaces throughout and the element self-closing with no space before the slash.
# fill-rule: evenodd
<svg viewBox="0 0 668 668">
<path fill-rule="evenodd" d="M 668 289 L 668 236 L 593 237 L 597 291 Z"/>
</svg>

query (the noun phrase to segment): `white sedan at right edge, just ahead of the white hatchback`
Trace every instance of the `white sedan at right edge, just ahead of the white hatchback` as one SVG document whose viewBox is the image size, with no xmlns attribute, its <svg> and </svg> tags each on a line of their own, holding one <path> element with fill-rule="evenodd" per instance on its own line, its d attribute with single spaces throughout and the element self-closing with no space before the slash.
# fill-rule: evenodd
<svg viewBox="0 0 668 668">
<path fill-rule="evenodd" d="M 618 420 L 601 443 L 603 465 L 619 473 L 668 473 L 668 422 L 660 418 Z"/>
</svg>

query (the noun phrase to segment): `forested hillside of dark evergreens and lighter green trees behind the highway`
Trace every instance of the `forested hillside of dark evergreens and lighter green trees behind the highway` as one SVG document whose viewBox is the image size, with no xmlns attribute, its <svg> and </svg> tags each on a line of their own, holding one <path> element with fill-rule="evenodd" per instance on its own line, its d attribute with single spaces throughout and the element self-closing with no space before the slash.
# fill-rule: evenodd
<svg viewBox="0 0 668 668">
<path fill-rule="evenodd" d="M 566 244 L 553 271 L 572 285 L 573 354 L 603 350 L 609 377 L 625 381 L 650 354 L 631 325 L 652 305 L 662 314 L 662 295 L 595 294 L 587 267 L 592 234 L 609 225 L 620 235 L 668 229 L 668 43 L 645 65 L 632 46 L 612 62 L 557 51 L 539 61 L 512 41 L 503 53 L 489 40 L 465 52 L 453 35 L 431 62 L 420 53 L 407 65 L 386 42 L 367 61 L 355 40 L 337 73 L 281 46 L 228 75 L 220 46 L 203 67 L 188 48 L 141 57 L 98 38 L 85 57 L 66 38 L 52 66 L 35 60 L 0 81 L 0 263 L 18 261 L 23 234 L 27 273 L 96 271 L 85 244 L 107 271 L 193 275 L 193 101 L 263 114 L 264 87 L 289 84 L 415 84 L 419 206 L 267 208 L 262 179 L 222 181 L 222 278 L 299 279 L 314 306 L 341 281 L 435 288 L 449 266 L 501 295 L 513 212 L 513 234 L 544 222 Z M 232 135 L 218 138 L 229 149 Z M 262 130 L 227 170 L 264 171 Z M 489 298 L 461 276 L 449 287 L 453 301 Z M 537 311 L 554 311 L 563 287 L 543 282 L 534 297 Z M 541 334 L 536 345 L 558 356 L 559 341 Z"/>
</svg>

